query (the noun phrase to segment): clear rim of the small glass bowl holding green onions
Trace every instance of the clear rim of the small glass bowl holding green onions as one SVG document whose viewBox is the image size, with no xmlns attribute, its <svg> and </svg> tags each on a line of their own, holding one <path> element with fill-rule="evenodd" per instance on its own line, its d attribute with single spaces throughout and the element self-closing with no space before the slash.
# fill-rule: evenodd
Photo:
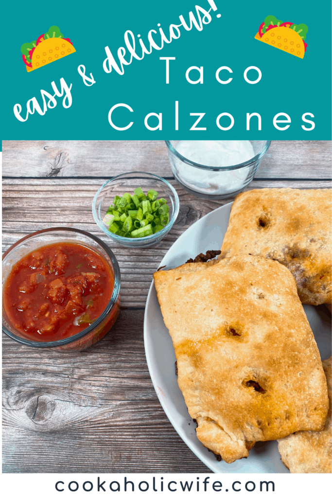
<svg viewBox="0 0 332 498">
<path fill-rule="evenodd" d="M 158 180 L 161 180 L 163 183 L 165 183 L 172 191 L 173 195 L 174 195 L 174 200 L 175 200 L 175 208 L 173 210 L 173 214 L 172 214 L 172 218 L 169 220 L 168 224 L 162 229 L 160 230 L 160 232 L 157 232 L 156 234 L 153 234 L 153 235 L 148 235 L 147 237 L 137 237 L 135 239 L 130 239 L 130 238 L 126 238 L 126 237 L 120 237 L 119 235 L 116 235 L 116 234 L 112 234 L 109 230 L 107 230 L 106 227 L 104 227 L 104 225 L 102 225 L 102 223 L 100 222 L 100 219 L 98 217 L 98 214 L 97 214 L 97 211 L 96 211 L 96 204 L 97 204 L 97 199 L 98 199 L 98 196 L 99 194 L 101 193 L 101 191 L 103 190 L 104 187 L 106 187 L 109 183 L 111 183 L 112 181 L 114 180 L 117 180 L 117 179 L 120 179 L 120 178 L 128 178 L 129 175 L 146 175 L 147 178 L 151 177 L 151 178 L 157 178 Z M 163 235 L 166 235 L 170 229 L 172 228 L 178 214 L 179 214 L 179 209 L 180 209 L 180 201 L 179 201 L 179 196 L 175 190 L 175 188 L 170 184 L 168 183 L 167 180 L 165 180 L 164 178 L 162 178 L 161 176 L 158 176 L 158 175 L 155 175 L 153 173 L 148 173 L 146 171 L 128 171 L 127 173 L 120 173 L 119 175 L 116 175 L 114 176 L 113 178 L 111 178 L 110 180 L 107 180 L 99 189 L 98 191 L 96 192 L 96 195 L 94 197 L 94 200 L 92 201 L 92 214 L 93 214 L 93 217 L 95 219 L 95 222 L 97 223 L 98 227 L 103 230 L 103 232 L 108 236 L 110 237 L 111 239 L 113 239 L 114 241 L 117 241 L 119 244 L 122 244 L 123 243 L 123 239 L 125 239 L 126 241 L 133 241 L 132 245 L 134 246 L 134 241 L 137 241 L 138 243 L 139 242 L 147 242 L 148 241 L 152 241 L 156 238 L 159 238 L 160 236 L 163 236 Z M 129 243 L 130 244 L 130 243 Z"/>
</svg>

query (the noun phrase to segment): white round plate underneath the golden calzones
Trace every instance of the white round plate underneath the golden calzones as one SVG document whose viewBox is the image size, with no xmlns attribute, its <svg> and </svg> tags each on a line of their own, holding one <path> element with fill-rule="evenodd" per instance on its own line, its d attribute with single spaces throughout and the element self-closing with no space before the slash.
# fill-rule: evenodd
<svg viewBox="0 0 332 498">
<path fill-rule="evenodd" d="M 183 264 L 208 249 L 220 249 L 226 233 L 232 203 L 216 209 L 192 225 L 169 249 L 159 266 L 167 269 Z M 322 307 L 304 306 L 322 359 L 331 356 L 331 320 Z M 173 427 L 195 455 L 216 473 L 289 473 L 278 452 L 277 441 L 258 442 L 248 458 L 226 464 L 218 462 L 196 436 L 196 424 L 190 417 L 175 375 L 175 354 L 171 336 L 164 324 L 152 282 L 144 316 L 144 345 L 151 379 Z"/>
</svg>

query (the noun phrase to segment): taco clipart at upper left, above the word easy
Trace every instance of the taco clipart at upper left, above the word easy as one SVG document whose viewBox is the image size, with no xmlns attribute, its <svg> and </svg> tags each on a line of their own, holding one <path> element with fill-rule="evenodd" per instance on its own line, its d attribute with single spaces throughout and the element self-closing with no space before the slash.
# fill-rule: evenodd
<svg viewBox="0 0 332 498">
<path fill-rule="evenodd" d="M 37 40 L 23 43 L 21 52 L 26 70 L 30 72 L 66 57 L 76 50 L 70 38 L 65 38 L 58 26 L 51 26 L 47 33 L 38 36 Z"/>
</svg>

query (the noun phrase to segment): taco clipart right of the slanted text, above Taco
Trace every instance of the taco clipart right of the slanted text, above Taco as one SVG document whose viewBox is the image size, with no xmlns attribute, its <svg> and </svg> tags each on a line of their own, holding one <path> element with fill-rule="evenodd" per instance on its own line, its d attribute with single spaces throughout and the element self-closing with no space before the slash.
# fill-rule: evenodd
<svg viewBox="0 0 332 498">
<path fill-rule="evenodd" d="M 307 32 L 306 24 L 282 22 L 274 15 L 268 15 L 259 26 L 255 38 L 303 59 L 308 46 L 304 41 Z"/>
</svg>

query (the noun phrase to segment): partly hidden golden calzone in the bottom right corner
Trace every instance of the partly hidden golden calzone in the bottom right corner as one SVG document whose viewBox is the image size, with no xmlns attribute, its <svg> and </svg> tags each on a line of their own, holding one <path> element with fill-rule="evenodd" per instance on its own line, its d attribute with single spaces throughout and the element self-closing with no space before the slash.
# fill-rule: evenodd
<svg viewBox="0 0 332 498">
<path fill-rule="evenodd" d="M 329 392 L 329 412 L 321 432 L 300 431 L 278 441 L 279 452 L 292 474 L 332 472 L 331 357 L 323 362 Z"/>
</svg>

